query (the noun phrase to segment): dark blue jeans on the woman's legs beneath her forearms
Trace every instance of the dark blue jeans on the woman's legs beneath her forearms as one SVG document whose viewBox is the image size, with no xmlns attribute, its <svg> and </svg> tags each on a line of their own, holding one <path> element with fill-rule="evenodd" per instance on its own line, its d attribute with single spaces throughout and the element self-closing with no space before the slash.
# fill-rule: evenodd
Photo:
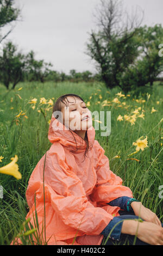
<svg viewBox="0 0 163 256">
<path fill-rule="evenodd" d="M 120 210 L 118 213 L 120 214 L 120 216 L 117 216 L 117 217 L 120 218 L 121 220 L 139 218 L 138 216 L 135 216 L 135 214 L 131 214 L 130 212 L 127 212 L 127 211 Z M 142 218 L 141 220 L 143 221 Z M 161 224 L 163 227 L 163 223 Z M 107 237 L 104 236 L 101 245 L 102 244 L 104 245 L 104 242 L 106 241 L 106 239 Z M 135 237 L 135 235 L 128 235 L 128 234 L 121 233 L 120 241 L 115 241 L 109 238 L 105 245 L 149 245 L 149 243 L 143 242 L 139 238 Z"/>
</svg>

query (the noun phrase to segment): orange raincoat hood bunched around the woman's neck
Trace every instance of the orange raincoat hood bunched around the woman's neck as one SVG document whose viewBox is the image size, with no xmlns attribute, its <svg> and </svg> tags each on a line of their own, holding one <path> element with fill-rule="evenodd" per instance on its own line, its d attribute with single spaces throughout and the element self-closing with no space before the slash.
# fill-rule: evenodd
<svg viewBox="0 0 163 256">
<path fill-rule="evenodd" d="M 95 141 L 95 128 L 91 126 L 86 132 L 89 141 L 89 148 L 92 148 Z M 79 152 L 85 150 L 87 146 L 82 137 L 78 136 L 76 132 L 68 129 L 64 124 L 56 119 L 53 114 L 49 125 L 48 139 L 51 143 L 59 142 L 69 150 L 76 150 L 78 147 Z"/>
</svg>

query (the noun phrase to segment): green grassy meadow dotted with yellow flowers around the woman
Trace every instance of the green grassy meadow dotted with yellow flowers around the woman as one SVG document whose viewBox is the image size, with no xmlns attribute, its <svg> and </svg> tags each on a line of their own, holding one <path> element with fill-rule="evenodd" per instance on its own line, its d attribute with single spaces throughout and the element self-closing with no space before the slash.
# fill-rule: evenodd
<svg viewBox="0 0 163 256">
<path fill-rule="evenodd" d="M 81 96 L 91 112 L 111 111 L 110 136 L 101 136 L 99 129 L 95 139 L 104 148 L 112 172 L 163 222 L 163 86 L 159 82 L 152 94 L 138 97 L 100 82 L 23 82 L 9 92 L 2 84 L 0 89 L 0 168 L 17 155 L 21 173 L 16 179 L 0 169 L 0 245 L 9 245 L 22 229 L 28 212 L 28 180 L 51 147 L 47 135 L 53 104 L 66 93 Z M 93 118 L 95 122 L 101 124 Z"/>
</svg>

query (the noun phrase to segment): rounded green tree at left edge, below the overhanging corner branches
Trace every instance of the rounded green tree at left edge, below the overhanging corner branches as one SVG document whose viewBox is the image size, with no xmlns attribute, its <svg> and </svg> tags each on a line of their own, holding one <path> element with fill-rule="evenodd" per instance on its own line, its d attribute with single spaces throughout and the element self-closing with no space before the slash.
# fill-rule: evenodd
<svg viewBox="0 0 163 256">
<path fill-rule="evenodd" d="M 5 44 L 3 56 L 0 58 L 0 80 L 7 89 L 12 83 L 14 89 L 16 84 L 23 80 L 25 59 L 21 52 L 17 52 L 17 47 L 11 41 Z"/>
</svg>

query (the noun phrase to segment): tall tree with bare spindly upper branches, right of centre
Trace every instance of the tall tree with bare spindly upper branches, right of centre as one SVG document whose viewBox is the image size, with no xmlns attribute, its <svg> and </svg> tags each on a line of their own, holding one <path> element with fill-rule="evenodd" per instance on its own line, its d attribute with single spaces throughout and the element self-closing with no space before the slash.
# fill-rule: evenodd
<svg viewBox="0 0 163 256">
<path fill-rule="evenodd" d="M 123 23 L 122 1 L 118 0 L 101 0 L 96 11 L 98 32 L 91 31 L 86 54 L 96 61 L 96 68 L 107 87 L 123 88 L 120 77 L 140 53 L 137 33 L 141 21 L 137 21 L 135 13 L 132 19 L 127 14 Z"/>
</svg>

